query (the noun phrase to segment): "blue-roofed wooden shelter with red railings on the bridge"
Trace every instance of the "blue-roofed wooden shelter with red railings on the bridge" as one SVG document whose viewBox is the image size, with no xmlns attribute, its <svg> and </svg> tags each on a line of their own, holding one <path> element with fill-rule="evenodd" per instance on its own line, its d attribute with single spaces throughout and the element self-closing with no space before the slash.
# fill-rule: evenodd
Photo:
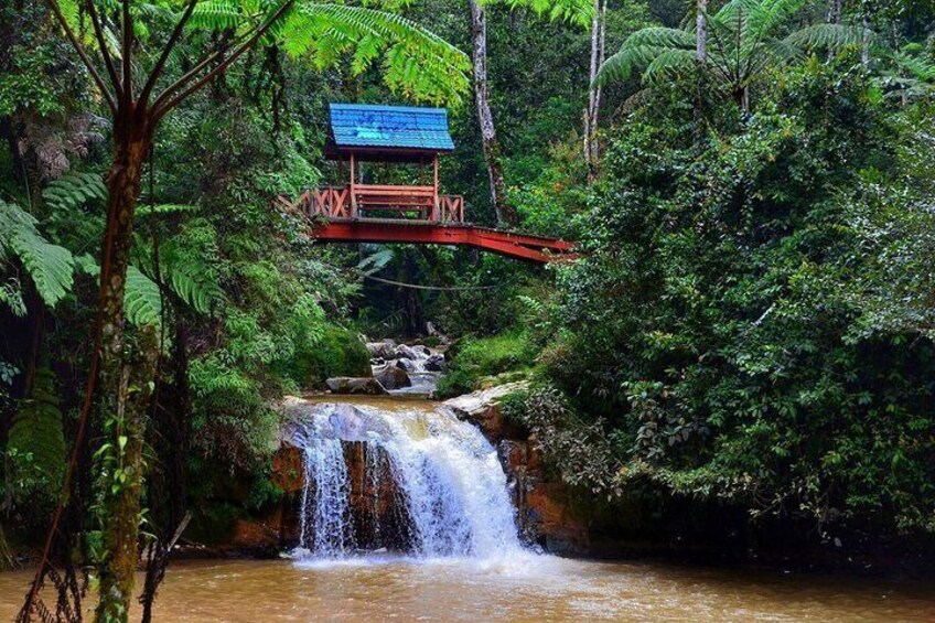
<svg viewBox="0 0 935 623">
<path fill-rule="evenodd" d="M 313 197 L 329 218 L 364 218 L 368 211 L 415 215 L 429 222 L 464 221 L 464 201 L 439 193 L 439 154 L 454 150 L 444 108 L 332 104 L 325 155 L 350 163 L 347 186 L 321 189 Z M 358 163 L 432 163 L 431 185 L 363 184 Z"/>
</svg>

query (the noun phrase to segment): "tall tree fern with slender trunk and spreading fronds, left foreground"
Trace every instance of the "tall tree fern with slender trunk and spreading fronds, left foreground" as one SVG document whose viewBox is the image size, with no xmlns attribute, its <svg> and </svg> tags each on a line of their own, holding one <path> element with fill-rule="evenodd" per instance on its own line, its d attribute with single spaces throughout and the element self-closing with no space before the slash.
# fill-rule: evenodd
<svg viewBox="0 0 935 623">
<path fill-rule="evenodd" d="M 201 4 L 198 0 L 164 0 L 161 8 L 175 15 L 174 24 L 165 31 L 138 29 L 137 18 L 147 14 L 147 9 L 132 0 L 120 0 L 117 11 L 110 10 L 112 2 L 98 4 L 98 0 L 46 3 L 112 119 L 114 155 L 106 176 L 107 221 L 98 319 L 75 451 L 83 442 L 99 367 L 100 411 L 109 437 L 105 443 L 112 460 L 101 479 L 105 552 L 99 569 L 97 619 L 125 621 L 137 565 L 144 406 L 153 375 L 154 342 L 146 336 L 128 341 L 123 294 L 143 165 L 160 121 L 247 51 L 260 45 L 279 44 L 297 56 L 312 49 L 326 52 L 314 55 L 320 65 L 353 52 L 358 73 L 385 53 L 385 82 L 417 98 L 456 96 L 466 84 L 466 58 L 398 15 L 312 0 L 225 0 Z M 79 20 L 84 15 L 90 21 L 93 39 L 82 34 Z M 186 65 L 187 71 L 166 75 L 170 58 L 181 51 L 180 41 L 185 37 L 191 46 L 192 41 L 197 41 L 197 31 L 218 35 L 202 58 Z M 152 32 L 155 41 L 143 45 L 140 32 Z M 208 43 L 207 37 L 204 42 Z M 155 50 L 157 54 L 149 56 L 146 50 Z M 71 471 L 66 476 L 69 480 Z M 65 486 L 67 490 L 67 482 Z M 37 592 L 47 571 L 61 514 L 62 505 L 53 517 L 43 559 L 21 613 L 23 620 L 37 614 Z"/>
</svg>

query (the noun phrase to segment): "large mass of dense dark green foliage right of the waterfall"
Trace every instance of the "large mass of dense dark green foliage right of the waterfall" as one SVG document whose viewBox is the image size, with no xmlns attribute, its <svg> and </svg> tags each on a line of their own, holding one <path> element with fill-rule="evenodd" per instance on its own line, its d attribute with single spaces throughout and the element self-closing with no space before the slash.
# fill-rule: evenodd
<svg viewBox="0 0 935 623">
<path fill-rule="evenodd" d="M 662 95 L 630 117 L 587 216 L 591 255 L 561 275 L 573 358 L 544 361 L 627 481 L 931 530 L 935 345 L 867 322 L 879 259 L 855 226 L 861 178 L 902 174 L 898 129 L 866 77 L 813 63 L 774 83 L 700 142 Z"/>
</svg>

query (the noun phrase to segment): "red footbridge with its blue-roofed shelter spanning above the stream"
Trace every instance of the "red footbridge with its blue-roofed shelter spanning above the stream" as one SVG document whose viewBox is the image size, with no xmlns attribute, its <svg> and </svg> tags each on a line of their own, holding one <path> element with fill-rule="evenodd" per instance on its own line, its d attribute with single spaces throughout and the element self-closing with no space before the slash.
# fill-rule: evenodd
<svg viewBox="0 0 935 623">
<path fill-rule="evenodd" d="M 439 193 L 439 153 L 454 149 L 443 108 L 332 104 L 329 121 L 325 154 L 348 164 L 347 185 L 280 198 L 310 219 L 319 240 L 460 245 L 536 262 L 573 257 L 565 240 L 475 227 L 463 197 Z M 364 183 L 362 162 L 416 164 L 420 180 L 431 163 L 431 183 Z"/>
</svg>

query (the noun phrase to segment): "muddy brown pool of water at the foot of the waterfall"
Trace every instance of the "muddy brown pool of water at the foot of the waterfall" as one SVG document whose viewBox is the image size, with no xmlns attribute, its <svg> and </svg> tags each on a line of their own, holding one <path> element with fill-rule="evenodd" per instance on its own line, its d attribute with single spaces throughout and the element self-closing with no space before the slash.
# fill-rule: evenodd
<svg viewBox="0 0 935 623">
<path fill-rule="evenodd" d="M 0 573 L 0 619 L 26 572 Z M 174 563 L 157 621 L 935 621 L 935 584 L 549 556 Z"/>
</svg>

